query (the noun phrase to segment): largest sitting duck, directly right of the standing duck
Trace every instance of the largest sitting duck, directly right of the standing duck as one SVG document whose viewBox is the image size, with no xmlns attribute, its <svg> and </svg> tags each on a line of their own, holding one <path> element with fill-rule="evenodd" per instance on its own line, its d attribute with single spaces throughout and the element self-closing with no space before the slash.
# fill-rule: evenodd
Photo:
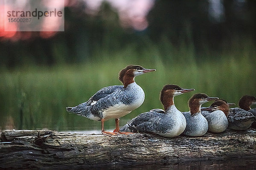
<svg viewBox="0 0 256 170">
<path fill-rule="evenodd" d="M 186 119 L 174 105 L 174 97 L 195 89 L 184 89 L 178 85 L 165 85 L 160 92 L 162 109 L 152 109 L 132 119 L 122 131 L 154 133 L 165 137 L 179 136 L 186 127 Z"/>
</svg>

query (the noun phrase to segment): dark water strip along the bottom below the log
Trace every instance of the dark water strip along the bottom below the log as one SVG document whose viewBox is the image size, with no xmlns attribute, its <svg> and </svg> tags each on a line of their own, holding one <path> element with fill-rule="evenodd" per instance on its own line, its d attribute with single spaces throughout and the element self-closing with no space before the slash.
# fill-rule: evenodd
<svg viewBox="0 0 256 170">
<path fill-rule="evenodd" d="M 256 170 L 256 159 L 233 158 L 214 161 L 175 161 L 156 164 L 115 164 L 102 167 L 84 167 L 90 170 Z"/>
</svg>

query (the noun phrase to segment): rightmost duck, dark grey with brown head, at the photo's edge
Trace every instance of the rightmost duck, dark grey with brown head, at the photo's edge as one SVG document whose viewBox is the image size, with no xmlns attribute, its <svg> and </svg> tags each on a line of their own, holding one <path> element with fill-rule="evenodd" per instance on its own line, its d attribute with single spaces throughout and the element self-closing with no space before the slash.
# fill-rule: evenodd
<svg viewBox="0 0 256 170">
<path fill-rule="evenodd" d="M 256 115 L 250 112 L 250 105 L 256 103 L 254 96 L 242 96 L 239 100 L 240 108 L 230 108 L 228 115 L 228 128 L 233 130 L 248 129 L 256 122 Z"/>
</svg>

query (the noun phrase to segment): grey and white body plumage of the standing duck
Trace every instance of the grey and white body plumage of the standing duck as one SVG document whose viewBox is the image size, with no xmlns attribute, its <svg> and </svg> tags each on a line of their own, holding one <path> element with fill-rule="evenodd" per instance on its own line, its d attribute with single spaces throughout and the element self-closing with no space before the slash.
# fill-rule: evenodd
<svg viewBox="0 0 256 170">
<path fill-rule="evenodd" d="M 113 85 L 100 89 L 87 102 L 68 107 L 67 111 L 92 120 L 108 120 L 125 116 L 142 105 L 144 99 L 144 91 L 136 82 L 126 88 Z"/>
</svg>

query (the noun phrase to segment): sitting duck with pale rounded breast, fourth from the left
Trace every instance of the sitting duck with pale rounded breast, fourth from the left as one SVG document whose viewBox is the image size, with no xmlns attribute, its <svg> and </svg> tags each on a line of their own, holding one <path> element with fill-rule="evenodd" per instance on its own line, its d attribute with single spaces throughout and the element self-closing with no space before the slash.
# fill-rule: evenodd
<svg viewBox="0 0 256 170">
<path fill-rule="evenodd" d="M 208 131 L 220 133 L 227 129 L 229 105 L 224 100 L 216 100 L 208 108 L 201 108 L 201 113 L 207 119 Z"/>
</svg>

